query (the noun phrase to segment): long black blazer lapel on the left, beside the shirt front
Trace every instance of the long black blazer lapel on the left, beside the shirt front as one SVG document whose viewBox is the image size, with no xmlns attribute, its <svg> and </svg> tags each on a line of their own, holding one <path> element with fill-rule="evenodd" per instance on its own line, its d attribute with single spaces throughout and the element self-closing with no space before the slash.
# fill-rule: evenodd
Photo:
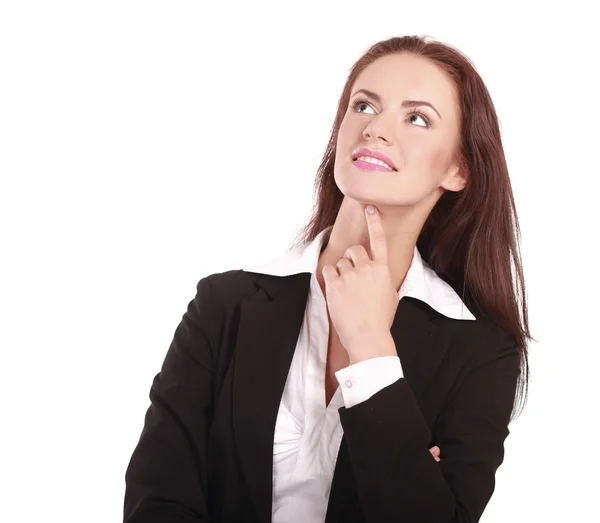
<svg viewBox="0 0 600 523">
<path fill-rule="evenodd" d="M 271 521 L 273 437 L 302 327 L 310 274 L 261 276 L 241 306 L 234 359 L 233 430 L 259 520 Z"/>
</svg>

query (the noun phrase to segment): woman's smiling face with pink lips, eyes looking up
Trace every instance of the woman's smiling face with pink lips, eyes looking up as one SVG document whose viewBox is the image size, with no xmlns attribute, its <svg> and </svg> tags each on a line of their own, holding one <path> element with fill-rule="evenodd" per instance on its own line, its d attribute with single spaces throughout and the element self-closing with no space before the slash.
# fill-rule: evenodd
<svg viewBox="0 0 600 523">
<path fill-rule="evenodd" d="M 435 109 L 405 107 L 408 100 Z M 464 187 L 454 158 L 459 126 L 454 84 L 437 65 L 407 53 L 379 58 L 352 87 L 337 139 L 336 184 L 361 203 L 422 206 L 428 212 L 445 190 Z M 352 157 L 359 147 L 384 153 L 396 170 L 360 168 Z"/>
</svg>

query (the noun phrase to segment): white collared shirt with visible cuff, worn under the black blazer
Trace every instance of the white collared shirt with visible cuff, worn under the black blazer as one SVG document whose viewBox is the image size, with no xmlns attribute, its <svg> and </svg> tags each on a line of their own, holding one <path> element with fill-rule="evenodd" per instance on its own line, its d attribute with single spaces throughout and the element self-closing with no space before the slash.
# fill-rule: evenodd
<svg viewBox="0 0 600 523">
<path fill-rule="evenodd" d="M 325 405 L 325 367 L 329 342 L 327 304 L 316 270 L 332 226 L 307 244 L 247 272 L 289 276 L 310 273 L 304 320 L 281 397 L 273 441 L 272 523 L 325 521 L 331 481 L 342 441 L 338 409 L 351 408 L 403 377 L 400 358 L 385 356 L 350 365 L 335 373 L 340 386 Z M 460 297 L 421 258 L 412 263 L 398 291 L 419 299 L 444 316 L 474 320 Z"/>
</svg>

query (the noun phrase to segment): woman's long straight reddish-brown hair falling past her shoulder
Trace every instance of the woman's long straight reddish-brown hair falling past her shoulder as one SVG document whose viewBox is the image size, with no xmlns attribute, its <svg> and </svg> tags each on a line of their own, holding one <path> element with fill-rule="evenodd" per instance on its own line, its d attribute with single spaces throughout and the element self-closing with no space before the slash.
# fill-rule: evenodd
<svg viewBox="0 0 600 523">
<path fill-rule="evenodd" d="M 344 195 L 334 181 L 337 137 L 350 93 L 361 71 L 391 53 L 409 52 L 432 60 L 454 82 L 462 112 L 457 155 L 466 187 L 445 192 L 417 241 L 423 259 L 476 315 L 490 317 L 514 335 L 521 374 L 511 416 L 527 401 L 529 332 L 520 229 L 504 157 L 498 117 L 490 94 L 469 58 L 426 37 L 394 37 L 374 44 L 352 66 L 338 103 L 329 143 L 317 171 L 312 217 L 294 245 L 312 241 L 333 225 Z"/>
</svg>

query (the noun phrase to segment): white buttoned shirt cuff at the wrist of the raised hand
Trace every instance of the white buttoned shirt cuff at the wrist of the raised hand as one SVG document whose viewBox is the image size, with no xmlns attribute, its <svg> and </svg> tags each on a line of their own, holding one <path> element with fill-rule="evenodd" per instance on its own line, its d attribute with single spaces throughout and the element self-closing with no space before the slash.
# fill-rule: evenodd
<svg viewBox="0 0 600 523">
<path fill-rule="evenodd" d="M 349 409 L 403 378 L 404 373 L 398 356 L 380 356 L 340 369 L 335 377 Z"/>
</svg>

